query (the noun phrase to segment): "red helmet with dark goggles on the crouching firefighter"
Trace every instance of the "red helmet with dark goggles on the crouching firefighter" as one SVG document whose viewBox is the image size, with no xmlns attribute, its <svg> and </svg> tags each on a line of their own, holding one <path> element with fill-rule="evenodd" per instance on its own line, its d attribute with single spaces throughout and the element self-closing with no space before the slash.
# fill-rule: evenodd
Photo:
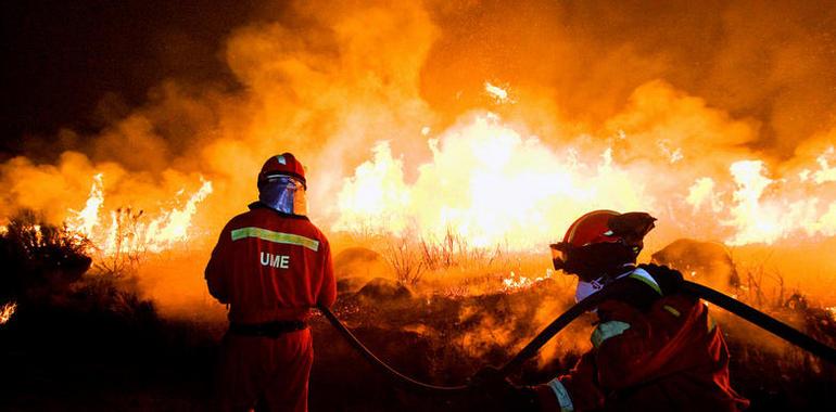
<svg viewBox="0 0 836 412">
<path fill-rule="evenodd" d="M 583 215 L 569 227 L 562 242 L 550 245 L 555 269 L 594 279 L 635 263 L 654 221 L 643 211 Z"/>
</svg>

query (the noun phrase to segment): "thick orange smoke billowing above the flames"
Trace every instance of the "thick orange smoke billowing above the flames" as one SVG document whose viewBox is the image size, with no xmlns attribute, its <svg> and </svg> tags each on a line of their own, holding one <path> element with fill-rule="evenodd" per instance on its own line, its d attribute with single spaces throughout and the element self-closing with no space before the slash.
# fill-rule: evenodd
<svg viewBox="0 0 836 412">
<path fill-rule="evenodd" d="M 252 196 L 252 170 L 264 157 L 295 151 L 322 201 L 372 142 L 391 139 L 415 163 L 428 154 L 423 126 L 496 108 L 485 80 L 510 86 L 518 103 L 499 111 L 546 141 L 623 130 L 631 152 L 648 157 L 668 140 L 671 150 L 776 159 L 803 151 L 810 138 L 832 141 L 836 11 L 825 3 L 255 9 L 263 11 L 255 23 L 229 34 L 219 51 L 242 86 L 236 91 L 166 81 L 93 139 L 56 138 L 92 140 L 75 150 L 96 167 L 115 162 L 151 179 L 201 172 L 228 181 L 231 198 L 241 199 Z M 4 197 L 8 215 L 21 201 Z"/>
</svg>

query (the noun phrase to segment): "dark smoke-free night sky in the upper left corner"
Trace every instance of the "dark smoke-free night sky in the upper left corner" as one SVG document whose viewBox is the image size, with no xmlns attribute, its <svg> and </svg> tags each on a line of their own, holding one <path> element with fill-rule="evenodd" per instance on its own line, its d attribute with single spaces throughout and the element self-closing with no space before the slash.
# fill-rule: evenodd
<svg viewBox="0 0 836 412">
<path fill-rule="evenodd" d="M 52 155 L 31 146 L 49 145 L 63 127 L 96 132 L 163 79 L 236 87 L 218 50 L 232 28 L 253 18 L 252 3 L 2 2 L 0 158 Z"/>
</svg>

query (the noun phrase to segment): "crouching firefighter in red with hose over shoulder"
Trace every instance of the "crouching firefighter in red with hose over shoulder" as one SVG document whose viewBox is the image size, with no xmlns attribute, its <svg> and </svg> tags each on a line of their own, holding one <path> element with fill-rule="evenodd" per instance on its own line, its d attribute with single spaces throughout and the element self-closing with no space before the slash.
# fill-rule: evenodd
<svg viewBox="0 0 836 412">
<path fill-rule="evenodd" d="M 729 351 L 699 299 L 676 293 L 682 275 L 636 266 L 645 213 L 596 210 L 552 245 L 555 268 L 578 275 L 575 299 L 617 288 L 597 309 L 593 349 L 568 374 L 516 387 L 494 378 L 503 408 L 530 411 L 737 411 L 748 401 L 729 382 Z M 490 382 L 496 370 L 480 372 Z M 498 381 L 498 382 L 497 382 Z"/>
</svg>

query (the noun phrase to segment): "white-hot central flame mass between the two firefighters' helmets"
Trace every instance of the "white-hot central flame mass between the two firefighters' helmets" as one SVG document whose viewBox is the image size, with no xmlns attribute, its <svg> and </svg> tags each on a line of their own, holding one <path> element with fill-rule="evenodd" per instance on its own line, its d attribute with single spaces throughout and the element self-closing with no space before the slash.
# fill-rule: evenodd
<svg viewBox="0 0 836 412">
<path fill-rule="evenodd" d="M 334 230 L 441 240 L 448 231 L 477 247 L 529 249 L 552 241 L 590 208 L 653 206 L 639 181 L 611 162 L 609 151 L 582 163 L 571 149 L 555 151 L 523 137 L 493 114 L 429 140 L 432 162 L 404 180 L 403 163 L 387 142 L 346 179 Z M 644 194 L 644 195 L 643 195 Z"/>
</svg>

